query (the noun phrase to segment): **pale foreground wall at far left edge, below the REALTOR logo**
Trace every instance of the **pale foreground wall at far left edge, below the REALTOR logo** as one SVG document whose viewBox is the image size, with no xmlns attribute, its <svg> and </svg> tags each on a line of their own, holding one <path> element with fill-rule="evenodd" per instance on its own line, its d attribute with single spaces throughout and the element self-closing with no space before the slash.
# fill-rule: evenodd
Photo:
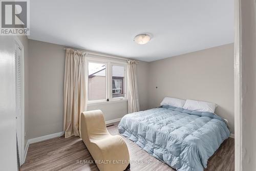
<svg viewBox="0 0 256 171">
<path fill-rule="evenodd" d="M 15 122 L 15 44 L 12 36 L 0 36 L 0 166 L 17 170 Z"/>
</svg>

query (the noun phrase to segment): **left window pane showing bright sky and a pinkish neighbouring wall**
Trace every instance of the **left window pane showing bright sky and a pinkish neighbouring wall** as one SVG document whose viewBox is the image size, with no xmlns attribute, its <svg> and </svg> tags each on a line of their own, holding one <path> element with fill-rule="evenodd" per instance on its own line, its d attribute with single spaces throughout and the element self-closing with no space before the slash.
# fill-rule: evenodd
<svg viewBox="0 0 256 171">
<path fill-rule="evenodd" d="M 88 75 L 89 100 L 106 99 L 106 65 L 89 62 Z"/>
</svg>

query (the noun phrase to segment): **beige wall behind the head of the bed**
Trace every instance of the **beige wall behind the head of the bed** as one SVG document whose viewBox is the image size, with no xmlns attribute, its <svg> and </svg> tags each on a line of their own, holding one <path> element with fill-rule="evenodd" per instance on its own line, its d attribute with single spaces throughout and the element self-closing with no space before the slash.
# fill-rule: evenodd
<svg viewBox="0 0 256 171">
<path fill-rule="evenodd" d="M 149 71 L 149 108 L 165 96 L 215 102 L 233 133 L 233 44 L 153 61 Z"/>
</svg>

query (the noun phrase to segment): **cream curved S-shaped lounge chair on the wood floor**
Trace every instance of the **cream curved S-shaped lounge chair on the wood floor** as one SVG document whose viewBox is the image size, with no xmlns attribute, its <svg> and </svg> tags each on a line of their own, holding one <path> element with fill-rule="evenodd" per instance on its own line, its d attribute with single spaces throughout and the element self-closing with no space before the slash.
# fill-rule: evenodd
<svg viewBox="0 0 256 171">
<path fill-rule="evenodd" d="M 130 169 L 126 143 L 121 136 L 110 135 L 100 110 L 81 114 L 81 138 L 100 171 Z"/>
</svg>

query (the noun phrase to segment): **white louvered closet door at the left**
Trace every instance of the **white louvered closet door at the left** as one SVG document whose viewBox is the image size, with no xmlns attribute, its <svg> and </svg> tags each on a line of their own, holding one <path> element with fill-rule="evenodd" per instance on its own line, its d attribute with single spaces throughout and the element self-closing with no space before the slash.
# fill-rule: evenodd
<svg viewBox="0 0 256 171">
<path fill-rule="evenodd" d="M 22 151 L 22 49 L 16 44 L 15 49 L 15 77 L 16 77 L 16 132 L 19 159 Z"/>
</svg>

